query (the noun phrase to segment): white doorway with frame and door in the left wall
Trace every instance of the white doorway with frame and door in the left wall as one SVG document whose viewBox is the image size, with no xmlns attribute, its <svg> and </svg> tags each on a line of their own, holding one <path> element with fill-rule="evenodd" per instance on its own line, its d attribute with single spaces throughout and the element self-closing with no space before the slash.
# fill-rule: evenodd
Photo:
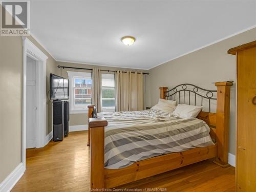
<svg viewBox="0 0 256 192">
<path fill-rule="evenodd" d="M 22 162 L 26 169 L 26 148 L 44 147 L 46 135 L 46 60 L 45 55 L 27 37 L 23 39 L 23 125 Z"/>
</svg>

